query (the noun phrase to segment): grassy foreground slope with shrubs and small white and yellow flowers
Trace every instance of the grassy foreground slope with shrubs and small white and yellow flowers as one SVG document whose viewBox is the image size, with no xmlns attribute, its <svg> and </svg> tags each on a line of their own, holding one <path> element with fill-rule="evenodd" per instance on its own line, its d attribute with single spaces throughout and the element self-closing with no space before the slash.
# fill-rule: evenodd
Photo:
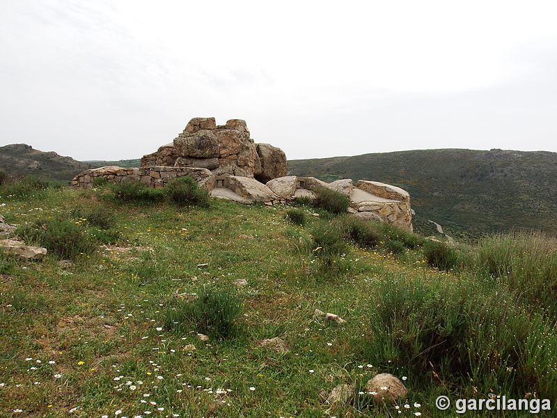
<svg viewBox="0 0 557 418">
<path fill-rule="evenodd" d="M 453 246 L 182 182 L 0 187 L 6 222 L 49 251 L 0 254 L 1 416 L 447 417 L 457 398 L 557 399 L 554 238 Z M 393 403 L 366 387 L 384 372 L 408 389 Z"/>
</svg>

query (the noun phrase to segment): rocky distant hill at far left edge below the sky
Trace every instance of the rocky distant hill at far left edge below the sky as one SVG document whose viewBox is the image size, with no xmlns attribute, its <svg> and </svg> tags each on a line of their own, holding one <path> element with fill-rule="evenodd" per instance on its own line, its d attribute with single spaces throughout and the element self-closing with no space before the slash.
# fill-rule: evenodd
<svg viewBox="0 0 557 418">
<path fill-rule="evenodd" d="M 45 153 L 26 144 L 0 147 L 0 171 L 10 176 L 34 175 L 69 183 L 76 174 L 91 167 L 86 162 L 63 157 L 54 151 Z"/>
</svg>

